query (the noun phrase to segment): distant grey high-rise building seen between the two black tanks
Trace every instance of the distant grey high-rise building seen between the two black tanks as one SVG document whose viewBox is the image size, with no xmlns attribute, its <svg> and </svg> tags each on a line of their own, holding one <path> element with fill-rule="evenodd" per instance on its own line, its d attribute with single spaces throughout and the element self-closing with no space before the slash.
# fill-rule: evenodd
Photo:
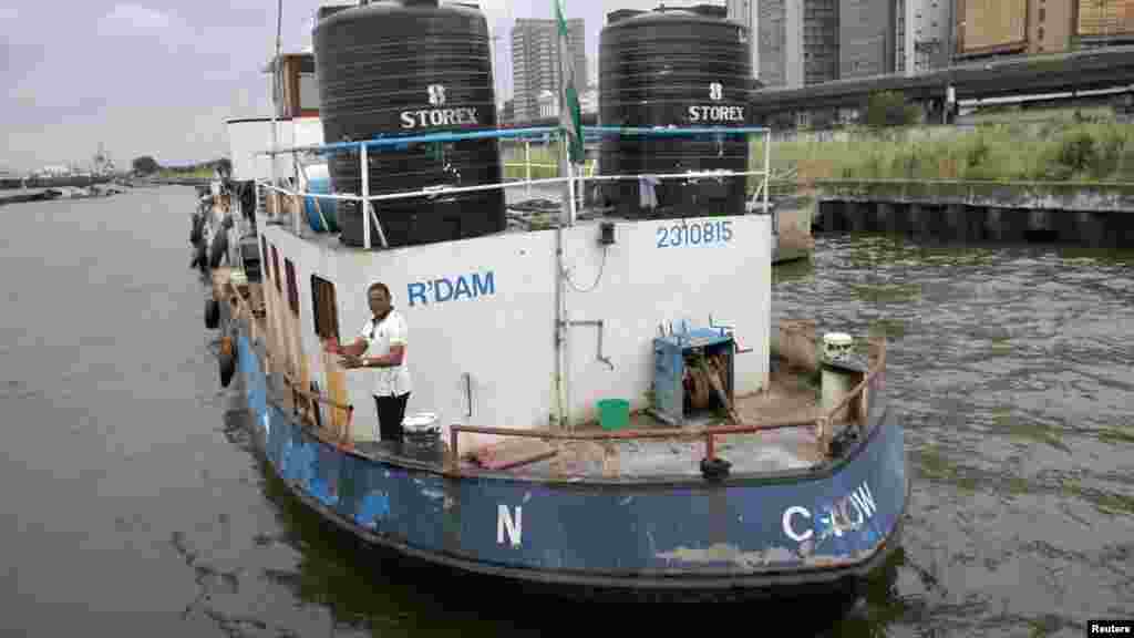
<svg viewBox="0 0 1134 638">
<path fill-rule="evenodd" d="M 567 20 L 567 47 L 575 60 L 576 89 L 586 86 L 586 31 L 582 18 Z M 513 104 L 516 121 L 540 117 L 540 93 L 559 92 L 556 20 L 518 18 L 511 30 Z"/>
</svg>

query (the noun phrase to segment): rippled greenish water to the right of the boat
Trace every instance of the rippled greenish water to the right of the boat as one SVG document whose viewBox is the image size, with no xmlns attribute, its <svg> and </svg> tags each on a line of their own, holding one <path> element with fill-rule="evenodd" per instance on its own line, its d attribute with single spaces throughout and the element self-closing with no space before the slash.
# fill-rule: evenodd
<svg viewBox="0 0 1134 638">
<path fill-rule="evenodd" d="M 889 338 L 915 482 L 895 582 L 862 607 L 887 633 L 1081 636 L 1134 615 L 1132 266 L 832 235 L 778 270 L 780 316 Z"/>
</svg>

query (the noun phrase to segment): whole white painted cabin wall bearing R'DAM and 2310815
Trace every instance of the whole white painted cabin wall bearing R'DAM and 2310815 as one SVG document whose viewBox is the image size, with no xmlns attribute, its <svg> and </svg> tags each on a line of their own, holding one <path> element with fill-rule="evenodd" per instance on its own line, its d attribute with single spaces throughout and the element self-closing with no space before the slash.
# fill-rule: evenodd
<svg viewBox="0 0 1134 638">
<path fill-rule="evenodd" d="M 689 219 L 688 225 L 729 220 L 727 243 L 658 247 L 660 227 L 670 234 L 678 223 L 638 221 L 616 226 L 602 277 L 592 292 L 568 288 L 568 317 L 606 322 L 604 355 L 596 360 L 598 331 L 573 327 L 570 392 L 573 422 L 595 418 L 603 397 L 645 405 L 653 377 L 653 338 L 659 325 L 736 328 L 737 341 L 753 352 L 736 358 L 737 394 L 768 381 L 771 299 L 771 220 L 762 216 Z M 407 412 L 438 412 L 442 425 L 542 427 L 557 413 L 555 395 L 555 232 L 502 234 L 364 253 L 332 247 L 335 240 L 313 242 L 279 226 L 261 226 L 269 244 L 296 265 L 302 345 L 314 378 L 327 387 L 311 308 L 311 275 L 335 282 L 342 342 L 354 339 L 370 318 L 366 287 L 384 282 L 409 328 L 407 356 L 414 380 Z M 579 288 L 590 287 L 602 262 L 599 227 L 579 225 L 564 233 L 567 267 Z M 492 272 L 491 294 L 441 303 L 411 305 L 408 286 L 440 278 Z M 482 279 L 483 280 L 483 279 Z M 432 300 L 431 300 L 432 301 Z M 472 377 L 468 415 L 463 375 Z M 358 439 L 376 438 L 376 415 L 367 372 L 348 372 L 356 406 Z M 462 450 L 494 437 L 468 435 Z"/>
</svg>

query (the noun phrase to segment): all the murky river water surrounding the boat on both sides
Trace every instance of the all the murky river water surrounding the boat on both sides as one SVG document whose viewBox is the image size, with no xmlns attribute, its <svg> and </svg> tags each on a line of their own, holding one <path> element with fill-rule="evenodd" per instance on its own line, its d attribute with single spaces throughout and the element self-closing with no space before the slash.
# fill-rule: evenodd
<svg viewBox="0 0 1134 638">
<path fill-rule="evenodd" d="M 0 635 L 535 636 L 610 620 L 358 546 L 251 453 L 189 270 L 193 191 L 2 210 Z M 781 317 L 885 330 L 914 472 L 856 599 L 640 632 L 1081 636 L 1134 615 L 1132 253 L 820 237 Z"/>
</svg>

